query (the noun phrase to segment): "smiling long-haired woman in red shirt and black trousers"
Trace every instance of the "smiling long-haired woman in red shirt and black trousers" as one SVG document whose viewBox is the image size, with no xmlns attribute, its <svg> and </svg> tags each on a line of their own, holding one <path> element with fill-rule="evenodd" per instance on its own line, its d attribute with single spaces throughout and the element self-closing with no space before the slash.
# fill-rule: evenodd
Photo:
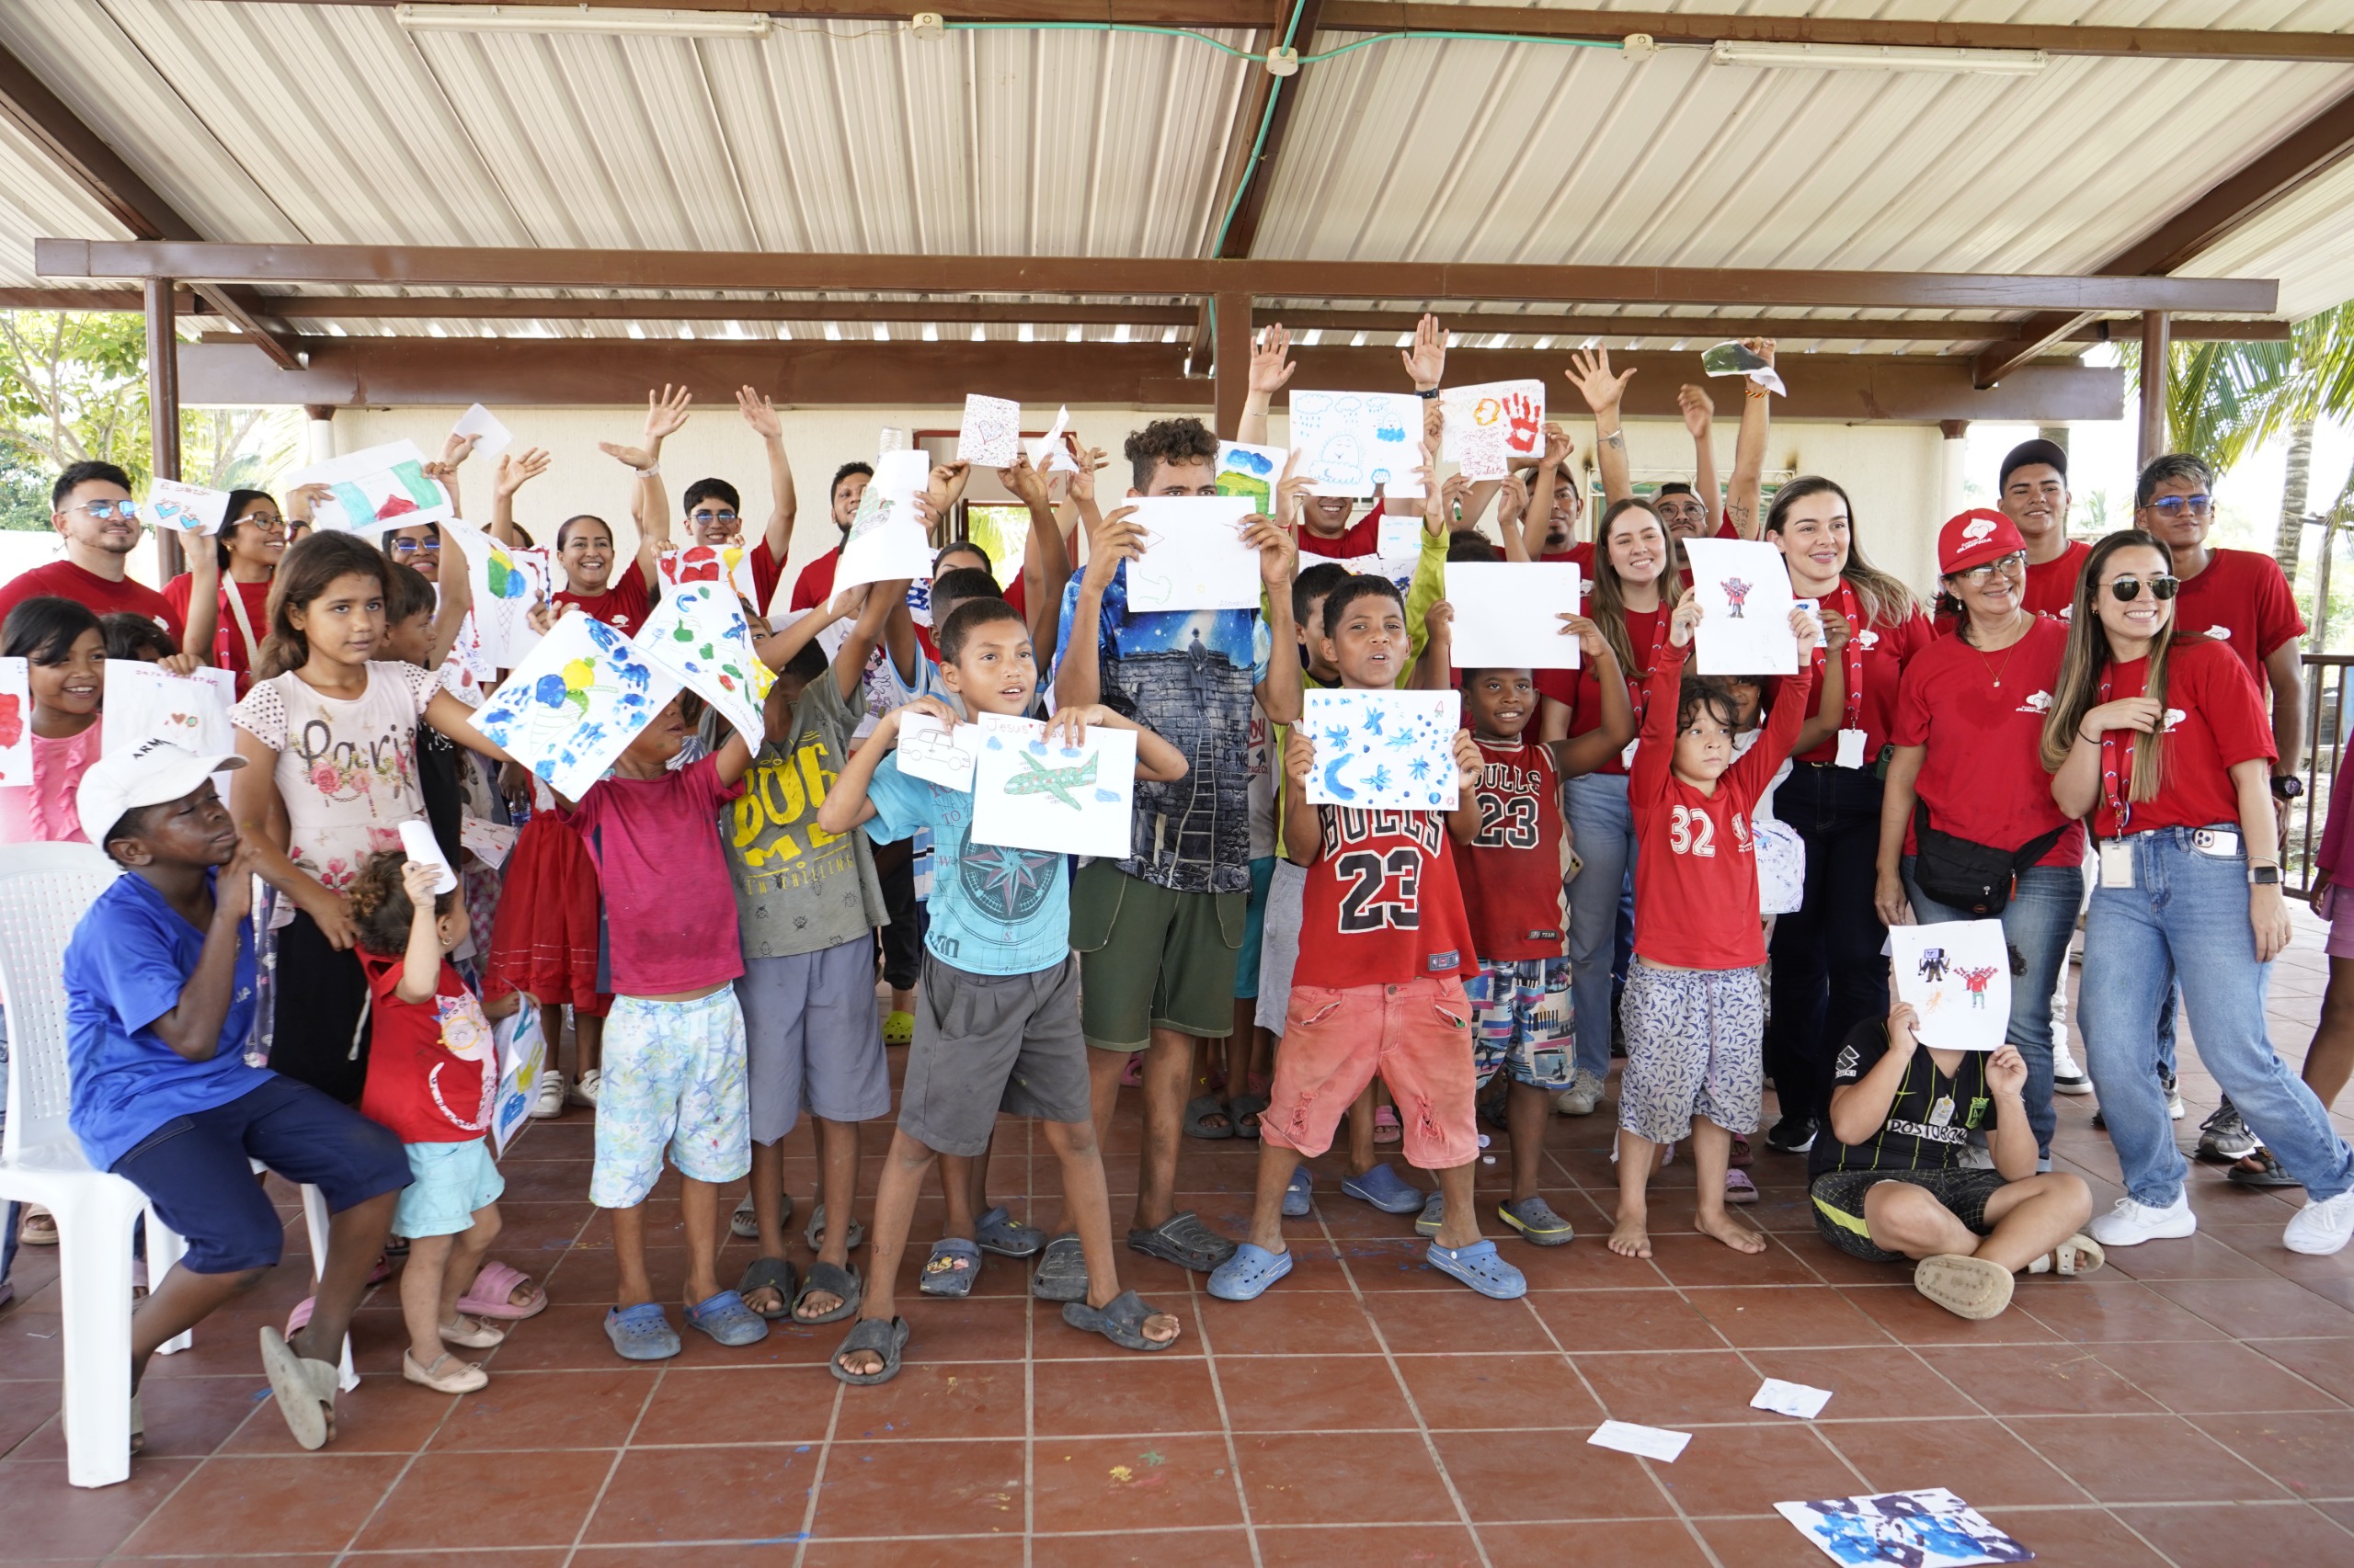
<svg viewBox="0 0 2354 1568">
<path fill-rule="evenodd" d="M 1930 626 L 1911 589 L 1864 560 L 1836 483 L 1806 476 L 1782 485 L 1763 537 L 1782 546 L 1791 593 L 1817 603 L 1824 636 L 1796 765 L 1775 793 L 1775 815 L 1806 841 L 1806 902 L 1775 921 L 1766 1034 L 1766 1071 L 1782 1104 L 1766 1142 L 1806 1154 L 1831 1114 L 1841 1041 L 1860 1019 L 1888 1015 L 1888 928 L 1874 906 L 1878 763 L 1904 664 L 1928 645 Z"/>
</svg>

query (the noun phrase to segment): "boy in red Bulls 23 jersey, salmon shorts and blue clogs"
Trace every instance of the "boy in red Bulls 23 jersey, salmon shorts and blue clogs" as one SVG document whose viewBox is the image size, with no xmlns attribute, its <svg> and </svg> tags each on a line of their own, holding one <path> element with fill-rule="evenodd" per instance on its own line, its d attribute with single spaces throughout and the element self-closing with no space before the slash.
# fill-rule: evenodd
<svg viewBox="0 0 2354 1568">
<path fill-rule="evenodd" d="M 1382 577 L 1335 586 L 1318 631 L 1344 690 L 1391 690 L 1410 657 L 1405 603 Z M 1276 1083 L 1259 1116 L 1250 1241 L 1210 1274 L 1210 1295 L 1250 1302 L 1292 1271 L 1283 1198 L 1304 1175 L 1302 1161 L 1332 1147 L 1342 1111 L 1375 1074 L 1398 1102 L 1408 1163 L 1436 1172 L 1445 1198 L 1431 1267 L 1481 1295 L 1525 1295 L 1521 1271 L 1481 1241 L 1471 1205 L 1478 1128 L 1464 977 L 1478 972 L 1478 956 L 1455 885 L 1448 812 L 1309 805 L 1314 765 L 1314 737 L 1292 730 L 1283 749 L 1283 848 L 1309 869 L 1299 963 Z M 1455 768 L 1462 796 L 1471 796 L 1481 756 L 1464 730 L 1455 732 Z"/>
</svg>

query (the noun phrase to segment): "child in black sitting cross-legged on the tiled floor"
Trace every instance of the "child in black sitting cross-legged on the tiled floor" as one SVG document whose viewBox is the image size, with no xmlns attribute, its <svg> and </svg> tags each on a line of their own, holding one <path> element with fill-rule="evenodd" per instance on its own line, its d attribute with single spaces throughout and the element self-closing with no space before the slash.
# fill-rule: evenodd
<svg viewBox="0 0 2354 1568">
<path fill-rule="evenodd" d="M 1838 1048 L 1829 1137 L 1808 1156 L 1822 1238 L 1864 1262 L 1916 1260 L 1914 1290 L 1963 1318 L 2003 1311 L 2022 1271 L 2107 1262 L 2081 1234 L 2093 1215 L 2083 1177 L 2036 1172 L 2017 1045 L 1933 1050 L 1916 1026 L 1911 1003 L 1897 1003 Z M 1987 1132 L 1994 1170 L 1963 1163 L 1973 1132 Z"/>
</svg>

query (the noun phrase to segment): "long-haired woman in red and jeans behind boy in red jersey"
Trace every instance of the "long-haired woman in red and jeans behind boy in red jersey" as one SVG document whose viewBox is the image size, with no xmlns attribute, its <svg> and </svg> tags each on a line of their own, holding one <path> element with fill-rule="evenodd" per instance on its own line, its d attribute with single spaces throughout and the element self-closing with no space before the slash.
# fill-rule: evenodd
<svg viewBox="0 0 2354 1568">
<path fill-rule="evenodd" d="M 1667 622 L 1683 598 L 1683 584 L 1669 570 L 1674 549 L 1667 523 L 1648 501 L 1615 501 L 1603 513 L 1598 539 L 1587 614 L 1617 655 L 1610 678 L 1627 680 L 1634 723 L 1641 730 L 1650 673 L 1660 664 L 1660 650 L 1667 647 Z M 1537 690 L 1544 692 L 1537 739 L 1568 739 L 1603 725 L 1601 673 L 1598 662 L 1584 669 L 1537 671 Z M 1568 1116 L 1591 1116 L 1603 1099 L 1603 1078 L 1610 1076 L 1610 1019 L 1617 1017 L 1610 972 L 1617 968 L 1615 958 L 1634 944 L 1629 883 L 1636 836 L 1627 810 L 1631 756 L 1634 744 L 1594 772 L 1570 779 L 1561 791 L 1570 841 L 1584 862 L 1570 883 L 1570 1008 L 1577 1052 L 1570 1062 L 1570 1088 L 1554 1099 L 1554 1109 Z"/>
</svg>

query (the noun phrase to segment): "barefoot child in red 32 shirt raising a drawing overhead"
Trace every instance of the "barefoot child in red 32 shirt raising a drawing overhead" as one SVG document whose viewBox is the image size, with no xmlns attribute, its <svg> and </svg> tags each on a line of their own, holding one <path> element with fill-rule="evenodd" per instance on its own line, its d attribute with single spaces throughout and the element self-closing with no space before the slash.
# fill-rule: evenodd
<svg viewBox="0 0 2354 1568">
<path fill-rule="evenodd" d="M 1634 961 L 1620 1015 L 1620 1205 L 1610 1250 L 1650 1257 L 1648 1205 L 1662 1144 L 1690 1135 L 1700 1168 L 1697 1229 L 1735 1253 L 1766 1238 L 1725 1212 L 1733 1137 L 1758 1125 L 1766 1071 L 1766 937 L 1749 815 L 1789 756 L 1813 683 L 1815 622 L 1791 610 L 1798 673 L 1775 697 L 1766 735 L 1733 760 L 1740 720 L 1721 685 L 1685 678 L 1700 626 L 1685 598 L 1650 676 L 1643 735 L 1627 770 L 1627 805 L 1641 852 L 1634 869 Z"/>
</svg>

